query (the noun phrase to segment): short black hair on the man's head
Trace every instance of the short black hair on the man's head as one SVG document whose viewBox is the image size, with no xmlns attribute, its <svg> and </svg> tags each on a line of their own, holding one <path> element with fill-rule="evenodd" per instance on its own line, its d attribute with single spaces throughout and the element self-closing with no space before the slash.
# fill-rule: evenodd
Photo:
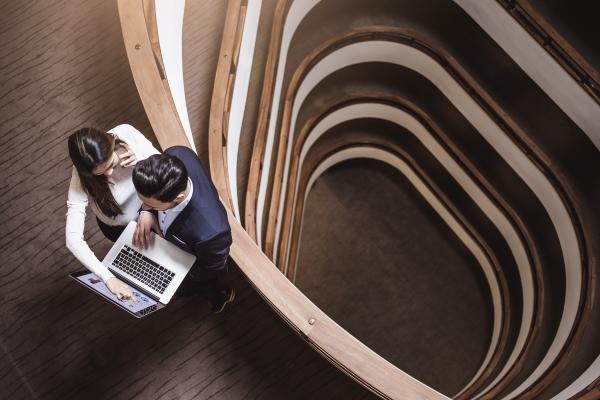
<svg viewBox="0 0 600 400">
<path fill-rule="evenodd" d="M 144 197 L 169 203 L 187 188 L 185 165 L 169 154 L 155 154 L 133 168 L 133 185 Z"/>
</svg>

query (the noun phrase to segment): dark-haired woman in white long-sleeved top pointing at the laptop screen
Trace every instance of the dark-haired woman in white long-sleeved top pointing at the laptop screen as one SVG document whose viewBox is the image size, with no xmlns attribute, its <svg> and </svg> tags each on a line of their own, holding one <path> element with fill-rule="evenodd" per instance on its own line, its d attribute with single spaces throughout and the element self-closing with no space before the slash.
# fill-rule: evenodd
<svg viewBox="0 0 600 400">
<path fill-rule="evenodd" d="M 68 145 L 73 172 L 67 200 L 67 248 L 113 294 L 136 301 L 129 286 L 117 279 L 85 242 L 85 210 L 91 199 L 100 230 L 116 241 L 127 223 L 137 219 L 142 205 L 131 181 L 133 166 L 159 152 L 131 125 L 108 132 L 82 128 L 69 136 Z"/>
</svg>

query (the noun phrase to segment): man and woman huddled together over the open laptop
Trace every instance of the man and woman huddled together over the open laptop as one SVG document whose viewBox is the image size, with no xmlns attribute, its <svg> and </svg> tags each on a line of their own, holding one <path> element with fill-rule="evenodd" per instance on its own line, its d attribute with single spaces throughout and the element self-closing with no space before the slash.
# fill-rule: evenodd
<svg viewBox="0 0 600 400">
<path fill-rule="evenodd" d="M 84 239 L 89 203 L 101 232 L 111 241 L 117 240 L 128 222 L 137 220 L 136 245 L 149 245 L 154 230 L 196 255 L 179 294 L 202 295 L 214 312 L 233 301 L 235 292 L 223 279 L 231 246 L 227 213 L 192 150 L 175 146 L 160 154 L 131 125 L 108 132 L 80 129 L 69 136 L 68 147 L 73 171 L 67 200 L 67 247 L 112 293 L 135 301 L 128 285 L 98 260 Z"/>
</svg>

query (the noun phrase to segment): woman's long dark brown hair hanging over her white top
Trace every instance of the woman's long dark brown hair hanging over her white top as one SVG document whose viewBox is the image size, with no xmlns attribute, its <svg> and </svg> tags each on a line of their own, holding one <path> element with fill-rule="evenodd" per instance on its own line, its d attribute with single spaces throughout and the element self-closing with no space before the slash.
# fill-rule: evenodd
<svg viewBox="0 0 600 400">
<path fill-rule="evenodd" d="M 105 175 L 94 175 L 92 171 L 105 163 L 115 151 L 115 144 L 122 141 L 100 129 L 81 128 L 68 139 L 69 156 L 79 174 L 81 186 L 98 208 L 107 216 L 114 218 L 123 213 L 110 191 Z"/>
</svg>

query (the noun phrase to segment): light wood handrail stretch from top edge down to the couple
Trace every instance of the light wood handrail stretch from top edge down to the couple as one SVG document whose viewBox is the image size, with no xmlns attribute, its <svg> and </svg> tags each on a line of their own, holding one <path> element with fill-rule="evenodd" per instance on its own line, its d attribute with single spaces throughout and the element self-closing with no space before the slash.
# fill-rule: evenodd
<svg viewBox="0 0 600 400">
<path fill-rule="evenodd" d="M 185 134 L 174 134 L 183 133 L 183 126 L 155 62 L 142 1 L 118 0 L 118 7 L 129 66 L 156 138 L 163 148 L 190 147 Z"/>
</svg>

